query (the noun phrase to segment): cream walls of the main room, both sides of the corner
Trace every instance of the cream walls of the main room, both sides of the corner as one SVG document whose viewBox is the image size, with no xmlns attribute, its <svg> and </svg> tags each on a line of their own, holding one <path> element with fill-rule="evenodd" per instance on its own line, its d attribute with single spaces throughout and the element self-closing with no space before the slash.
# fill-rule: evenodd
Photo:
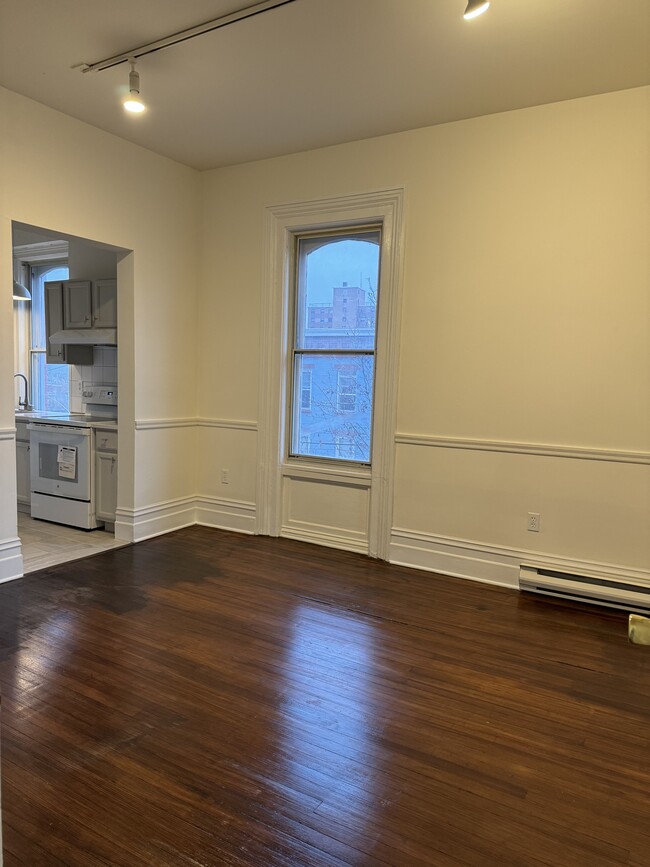
<svg viewBox="0 0 650 867">
<path fill-rule="evenodd" d="M 265 207 L 400 187 L 392 559 L 505 583 L 536 559 L 647 577 L 649 100 L 200 176 L 0 90 L 0 578 L 19 558 L 12 220 L 135 251 L 118 263 L 121 532 L 250 530 Z"/>
</svg>

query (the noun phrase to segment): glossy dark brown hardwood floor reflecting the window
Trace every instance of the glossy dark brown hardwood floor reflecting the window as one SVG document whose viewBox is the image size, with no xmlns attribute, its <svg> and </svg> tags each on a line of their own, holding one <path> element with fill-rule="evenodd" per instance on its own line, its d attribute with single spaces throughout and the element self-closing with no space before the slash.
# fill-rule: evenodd
<svg viewBox="0 0 650 867">
<path fill-rule="evenodd" d="M 650 865 L 622 614 L 194 527 L 0 618 L 5 867 Z"/>
</svg>

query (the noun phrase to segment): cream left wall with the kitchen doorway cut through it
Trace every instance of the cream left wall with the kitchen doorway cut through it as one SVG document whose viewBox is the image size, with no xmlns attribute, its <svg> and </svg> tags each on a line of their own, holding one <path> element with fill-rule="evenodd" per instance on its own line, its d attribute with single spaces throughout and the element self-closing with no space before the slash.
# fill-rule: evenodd
<svg viewBox="0 0 650 867">
<path fill-rule="evenodd" d="M 157 531 L 152 509 L 196 485 L 194 429 L 183 429 L 181 469 L 178 432 L 136 422 L 196 414 L 199 183 L 191 169 L 0 89 L 0 579 L 17 574 L 11 221 L 134 251 L 118 265 L 118 506 L 120 532 L 137 538 Z"/>
</svg>

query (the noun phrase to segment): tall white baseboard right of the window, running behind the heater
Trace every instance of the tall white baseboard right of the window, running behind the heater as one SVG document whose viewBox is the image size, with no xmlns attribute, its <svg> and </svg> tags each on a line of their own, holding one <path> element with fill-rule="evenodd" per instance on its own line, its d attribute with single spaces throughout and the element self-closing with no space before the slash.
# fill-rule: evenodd
<svg viewBox="0 0 650 867">
<path fill-rule="evenodd" d="M 633 578 L 644 585 L 650 582 L 650 572 L 643 569 L 505 548 L 471 539 L 417 533 L 400 527 L 393 527 L 391 531 L 389 562 L 513 588 L 519 586 L 519 567 L 522 563 L 578 575 Z"/>
</svg>

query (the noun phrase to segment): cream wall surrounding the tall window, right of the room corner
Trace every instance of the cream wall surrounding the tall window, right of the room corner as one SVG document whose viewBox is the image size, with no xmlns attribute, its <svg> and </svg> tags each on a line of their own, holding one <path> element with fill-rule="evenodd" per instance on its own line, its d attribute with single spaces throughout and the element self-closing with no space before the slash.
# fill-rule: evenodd
<svg viewBox="0 0 650 867">
<path fill-rule="evenodd" d="M 223 423 L 257 420 L 265 207 L 403 187 L 392 559 L 648 577 L 649 105 L 640 88 L 206 173 L 200 491 L 255 496 L 257 434 Z"/>
</svg>

